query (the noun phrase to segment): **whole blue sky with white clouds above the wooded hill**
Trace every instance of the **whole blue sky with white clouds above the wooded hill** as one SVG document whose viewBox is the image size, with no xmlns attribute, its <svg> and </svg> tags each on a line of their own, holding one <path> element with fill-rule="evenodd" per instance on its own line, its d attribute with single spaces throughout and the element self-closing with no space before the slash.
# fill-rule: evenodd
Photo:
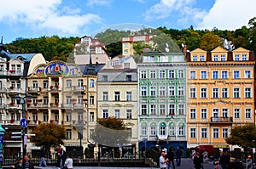
<svg viewBox="0 0 256 169">
<path fill-rule="evenodd" d="M 236 30 L 256 16 L 255 7 L 255 0 L 8 0 L 0 6 L 0 36 L 9 43 L 92 36 L 118 26 Z"/>
</svg>

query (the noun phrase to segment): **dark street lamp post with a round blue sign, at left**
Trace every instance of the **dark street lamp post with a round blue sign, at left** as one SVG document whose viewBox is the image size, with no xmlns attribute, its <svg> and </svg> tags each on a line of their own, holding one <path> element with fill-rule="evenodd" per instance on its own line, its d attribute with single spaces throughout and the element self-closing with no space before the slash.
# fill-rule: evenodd
<svg viewBox="0 0 256 169">
<path fill-rule="evenodd" d="M 22 119 L 20 120 L 20 125 L 22 127 L 21 130 L 21 137 L 22 137 L 22 159 L 24 161 L 24 157 L 26 155 L 26 147 L 25 147 L 25 135 L 26 135 L 26 127 L 27 127 L 27 121 L 26 121 L 26 99 L 32 99 L 31 94 L 27 94 L 25 97 L 20 97 L 20 95 L 16 95 L 15 97 L 17 104 L 21 104 L 22 106 Z M 22 168 L 25 169 L 25 163 L 23 163 Z"/>
</svg>

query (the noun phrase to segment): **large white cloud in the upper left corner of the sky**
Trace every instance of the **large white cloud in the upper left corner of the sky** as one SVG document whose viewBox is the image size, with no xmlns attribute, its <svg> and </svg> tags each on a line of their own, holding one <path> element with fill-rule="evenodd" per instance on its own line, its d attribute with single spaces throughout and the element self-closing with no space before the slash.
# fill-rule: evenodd
<svg viewBox="0 0 256 169">
<path fill-rule="evenodd" d="M 0 6 L 0 23 L 25 24 L 35 29 L 74 33 L 82 26 L 101 21 L 96 14 L 79 14 L 80 8 L 61 5 L 61 0 L 4 1 Z"/>
</svg>

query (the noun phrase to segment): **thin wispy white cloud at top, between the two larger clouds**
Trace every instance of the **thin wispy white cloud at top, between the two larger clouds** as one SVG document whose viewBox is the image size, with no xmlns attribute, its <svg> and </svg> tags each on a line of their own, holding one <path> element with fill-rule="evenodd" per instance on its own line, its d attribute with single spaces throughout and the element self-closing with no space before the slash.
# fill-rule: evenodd
<svg viewBox="0 0 256 169">
<path fill-rule="evenodd" d="M 144 14 L 145 20 L 166 19 L 173 11 L 183 12 L 183 8 L 194 3 L 195 0 L 160 0 Z"/>
</svg>

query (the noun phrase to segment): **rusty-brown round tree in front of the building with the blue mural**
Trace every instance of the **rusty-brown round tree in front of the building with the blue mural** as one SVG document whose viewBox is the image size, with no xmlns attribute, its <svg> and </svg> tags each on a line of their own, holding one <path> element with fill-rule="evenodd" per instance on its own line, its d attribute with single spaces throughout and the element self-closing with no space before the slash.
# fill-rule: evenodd
<svg viewBox="0 0 256 169">
<path fill-rule="evenodd" d="M 54 123 L 40 124 L 32 132 L 36 136 L 30 138 L 30 141 L 36 146 L 44 145 L 47 150 L 50 147 L 64 144 L 63 139 L 66 139 L 65 128 Z"/>
</svg>

